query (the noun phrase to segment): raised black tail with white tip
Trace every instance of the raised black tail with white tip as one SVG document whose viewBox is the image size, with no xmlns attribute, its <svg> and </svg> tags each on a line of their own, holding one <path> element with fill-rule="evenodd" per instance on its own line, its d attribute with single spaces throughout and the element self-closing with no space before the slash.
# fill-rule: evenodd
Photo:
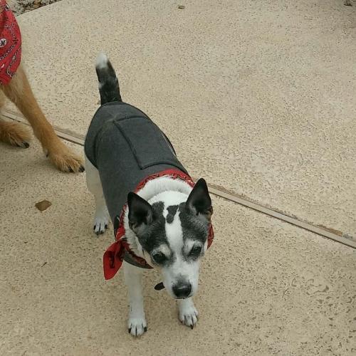
<svg viewBox="0 0 356 356">
<path fill-rule="evenodd" d="M 106 54 L 100 53 L 96 59 L 95 70 L 99 80 L 101 105 L 112 101 L 122 101 L 119 80 Z"/>
</svg>

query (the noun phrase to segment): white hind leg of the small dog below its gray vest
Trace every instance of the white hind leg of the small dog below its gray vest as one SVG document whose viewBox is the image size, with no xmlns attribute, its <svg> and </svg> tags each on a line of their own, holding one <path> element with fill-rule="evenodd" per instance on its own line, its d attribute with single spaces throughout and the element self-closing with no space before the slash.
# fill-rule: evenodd
<svg viewBox="0 0 356 356">
<path fill-rule="evenodd" d="M 95 234 L 104 234 L 105 229 L 108 228 L 109 212 L 105 203 L 103 188 L 101 187 L 100 175 L 85 156 L 85 172 L 87 187 L 95 198 L 95 217 L 94 217 L 94 231 Z"/>
</svg>

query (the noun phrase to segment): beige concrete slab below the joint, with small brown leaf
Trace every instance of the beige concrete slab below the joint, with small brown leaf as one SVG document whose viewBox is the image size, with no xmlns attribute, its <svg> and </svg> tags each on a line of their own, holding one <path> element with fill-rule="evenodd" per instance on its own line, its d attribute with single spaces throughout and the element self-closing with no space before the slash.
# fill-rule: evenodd
<svg viewBox="0 0 356 356">
<path fill-rule="evenodd" d="M 218 198 L 199 325 L 180 325 L 147 273 L 149 330 L 132 339 L 122 273 L 103 279 L 112 226 L 93 236 L 85 176 L 56 172 L 36 144 L 0 150 L 1 355 L 355 355 L 355 250 Z"/>
</svg>

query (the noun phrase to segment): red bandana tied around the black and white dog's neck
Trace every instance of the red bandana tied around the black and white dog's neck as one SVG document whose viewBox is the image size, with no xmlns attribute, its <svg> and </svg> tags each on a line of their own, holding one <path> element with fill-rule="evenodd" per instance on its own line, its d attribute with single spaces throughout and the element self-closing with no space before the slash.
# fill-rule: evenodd
<svg viewBox="0 0 356 356">
<path fill-rule="evenodd" d="M 172 179 L 182 179 L 184 182 L 187 182 L 190 187 L 194 187 L 194 182 L 192 178 L 189 177 L 188 174 L 185 174 L 182 171 L 177 169 L 166 169 L 162 172 L 157 174 L 152 174 L 150 177 L 144 179 L 140 184 L 137 185 L 135 189 L 135 193 L 137 193 L 145 184 L 152 180 L 163 176 L 169 176 Z M 125 253 L 129 253 L 135 262 L 140 264 L 143 268 L 152 268 L 144 258 L 136 256 L 135 253 L 132 252 L 130 249 L 130 244 L 125 239 L 125 227 L 124 227 L 124 217 L 125 217 L 125 210 L 127 205 L 125 205 L 121 211 L 120 215 L 120 225 L 116 231 L 115 235 L 115 242 L 105 251 L 104 258 L 103 258 L 103 265 L 104 265 L 104 277 L 105 279 L 111 279 L 115 276 L 116 272 L 122 265 L 122 261 L 124 261 Z M 211 243 L 214 239 L 214 231 L 213 226 L 211 223 L 209 224 L 209 236 L 208 236 L 208 248 L 210 247 Z"/>
</svg>

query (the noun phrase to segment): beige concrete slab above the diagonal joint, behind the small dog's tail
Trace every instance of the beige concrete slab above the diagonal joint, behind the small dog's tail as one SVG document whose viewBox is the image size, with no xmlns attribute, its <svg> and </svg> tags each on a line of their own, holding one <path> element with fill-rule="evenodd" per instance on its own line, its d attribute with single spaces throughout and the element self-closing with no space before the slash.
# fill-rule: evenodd
<svg viewBox="0 0 356 356">
<path fill-rule="evenodd" d="M 19 17 L 33 88 L 85 133 L 106 51 L 194 176 L 356 236 L 355 7 L 63 0 Z"/>
</svg>

